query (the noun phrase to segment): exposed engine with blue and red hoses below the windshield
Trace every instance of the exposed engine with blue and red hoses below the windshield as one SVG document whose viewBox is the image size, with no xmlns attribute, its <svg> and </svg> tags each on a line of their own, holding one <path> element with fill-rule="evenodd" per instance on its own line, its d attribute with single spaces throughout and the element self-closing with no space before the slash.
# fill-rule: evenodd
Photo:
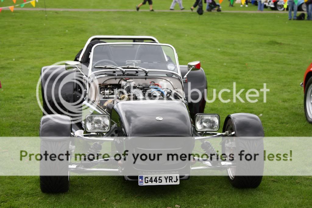
<svg viewBox="0 0 312 208">
<path fill-rule="evenodd" d="M 103 108 L 110 108 L 112 104 L 121 100 L 183 99 L 178 92 L 163 88 L 154 81 L 136 84 L 133 79 L 129 78 L 121 79 L 118 84 L 99 85 L 99 97 L 100 106 Z"/>
</svg>

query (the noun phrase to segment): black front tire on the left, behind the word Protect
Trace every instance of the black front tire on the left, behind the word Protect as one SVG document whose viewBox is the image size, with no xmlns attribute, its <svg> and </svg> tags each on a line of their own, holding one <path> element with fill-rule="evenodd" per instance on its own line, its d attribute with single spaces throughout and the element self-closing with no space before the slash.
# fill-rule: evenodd
<svg viewBox="0 0 312 208">
<path fill-rule="evenodd" d="M 45 151 L 56 155 L 66 154 L 69 149 L 69 139 L 45 140 L 41 139 L 40 153 Z M 49 155 L 50 155 L 49 154 Z M 43 157 L 40 161 L 40 188 L 44 193 L 64 193 L 69 189 L 68 160 L 51 161 Z M 51 176 L 48 174 L 51 173 Z"/>
</svg>

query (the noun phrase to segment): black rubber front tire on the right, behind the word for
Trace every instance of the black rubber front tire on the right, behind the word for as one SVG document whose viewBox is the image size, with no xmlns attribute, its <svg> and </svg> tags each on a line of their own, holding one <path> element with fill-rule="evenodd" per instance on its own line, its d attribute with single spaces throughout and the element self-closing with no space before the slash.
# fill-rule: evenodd
<svg viewBox="0 0 312 208">
<path fill-rule="evenodd" d="M 231 119 L 229 119 L 226 123 L 226 131 L 234 132 L 234 124 Z M 235 136 L 235 135 L 234 135 Z M 263 138 L 260 139 L 244 139 L 238 137 L 225 137 L 222 138 L 222 153 L 230 154 L 227 152 L 225 145 L 228 142 L 234 142 L 235 148 L 232 149 L 232 153 L 234 154 L 234 161 L 236 160 L 236 156 L 238 157 L 239 150 L 250 150 L 250 152 L 257 152 L 259 155 L 256 157 L 258 160 L 254 162 L 242 161 L 236 163 L 235 167 L 235 175 L 231 175 L 231 168 L 228 169 L 228 178 L 232 186 L 236 188 L 256 188 L 260 185 L 262 181 L 262 174 L 264 168 L 263 161 Z M 249 151 L 246 151 L 246 154 Z M 259 158 L 261 158 L 259 160 Z M 253 175 L 253 173 L 256 173 Z M 261 173 L 259 175 L 259 173 Z M 248 176 L 244 176 L 244 175 Z"/>
</svg>

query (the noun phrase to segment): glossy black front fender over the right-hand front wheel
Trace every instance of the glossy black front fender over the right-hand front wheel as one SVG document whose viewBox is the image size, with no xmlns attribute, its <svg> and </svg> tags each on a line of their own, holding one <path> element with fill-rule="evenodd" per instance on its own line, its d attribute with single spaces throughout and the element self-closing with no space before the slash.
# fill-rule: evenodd
<svg viewBox="0 0 312 208">
<path fill-rule="evenodd" d="M 224 121 L 223 132 L 228 119 L 232 119 L 237 137 L 264 137 L 262 123 L 258 116 L 246 113 L 228 115 Z"/>
</svg>

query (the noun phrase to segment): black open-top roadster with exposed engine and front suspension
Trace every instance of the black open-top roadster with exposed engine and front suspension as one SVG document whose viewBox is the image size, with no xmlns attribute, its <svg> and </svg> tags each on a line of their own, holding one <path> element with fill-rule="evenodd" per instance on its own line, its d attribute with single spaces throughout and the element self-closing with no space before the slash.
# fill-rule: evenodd
<svg viewBox="0 0 312 208">
<path fill-rule="evenodd" d="M 225 171 L 234 187 L 261 183 L 263 159 L 250 163 L 248 158 L 237 159 L 245 150 L 263 155 L 260 119 L 231 114 L 222 133 L 217 133 L 219 115 L 204 113 L 207 80 L 200 62 L 179 65 L 173 46 L 154 37 L 93 36 L 75 61 L 41 69 L 41 92 L 41 154 L 55 154 L 40 161 L 43 192 L 68 191 L 70 172 L 111 173 L 142 186 L 179 184 L 191 172 L 217 169 Z M 221 160 L 221 152 L 205 141 L 212 138 L 221 140 Z M 210 157 L 191 154 L 196 141 Z M 78 148 L 82 143 L 90 144 Z M 108 155 L 102 148 L 107 143 L 113 150 L 106 151 L 115 156 L 95 158 Z M 77 151 L 85 151 L 89 160 L 73 162 Z M 131 157 L 161 156 L 159 152 L 181 157 L 172 161 Z"/>
</svg>

